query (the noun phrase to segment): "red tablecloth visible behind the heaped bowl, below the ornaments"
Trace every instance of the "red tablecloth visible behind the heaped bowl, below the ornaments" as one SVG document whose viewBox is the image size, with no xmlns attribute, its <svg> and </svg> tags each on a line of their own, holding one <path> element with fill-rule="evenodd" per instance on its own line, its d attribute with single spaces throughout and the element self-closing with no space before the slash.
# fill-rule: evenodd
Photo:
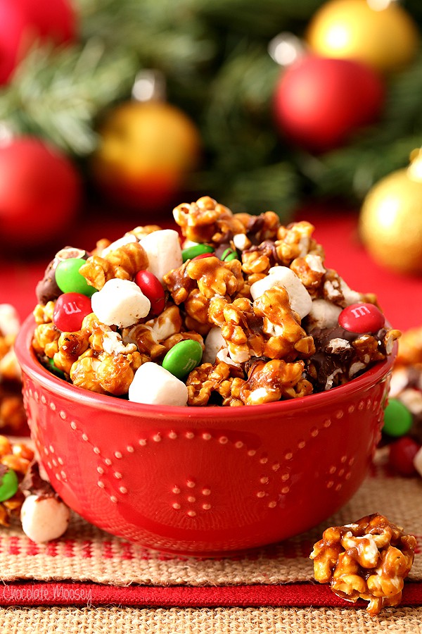
<svg viewBox="0 0 422 634">
<path fill-rule="evenodd" d="M 309 220 L 315 225 L 316 240 L 326 251 L 326 265 L 335 268 L 354 290 L 374 292 L 378 296 L 390 323 L 400 330 L 422 325 L 422 276 L 398 275 L 374 263 L 359 243 L 357 214 L 342 211 L 304 210 L 298 220 Z M 98 238 L 115 240 L 136 224 L 153 223 L 150 218 L 120 218 L 101 220 L 98 216 L 85 218 L 67 236 L 67 244 L 94 247 Z M 169 225 L 164 221 L 162 225 Z M 78 237 L 76 237 L 78 236 Z M 57 248 L 64 243 L 57 245 Z M 421 247 L 422 248 L 422 247 Z M 35 303 L 34 288 L 44 273 L 44 268 L 54 255 L 54 249 L 44 249 L 36 259 L 4 259 L 0 256 L 0 303 L 14 304 L 20 316 L 25 318 Z"/>
</svg>

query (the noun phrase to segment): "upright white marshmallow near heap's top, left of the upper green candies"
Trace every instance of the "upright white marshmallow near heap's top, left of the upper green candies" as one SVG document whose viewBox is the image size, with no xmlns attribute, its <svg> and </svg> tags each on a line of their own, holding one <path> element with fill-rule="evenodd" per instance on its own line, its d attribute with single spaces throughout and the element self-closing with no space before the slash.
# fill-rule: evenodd
<svg viewBox="0 0 422 634">
<path fill-rule="evenodd" d="M 148 256 L 148 271 L 161 283 L 163 275 L 179 268 L 183 262 L 179 234 L 174 229 L 153 231 L 143 237 L 140 244 Z"/>
</svg>

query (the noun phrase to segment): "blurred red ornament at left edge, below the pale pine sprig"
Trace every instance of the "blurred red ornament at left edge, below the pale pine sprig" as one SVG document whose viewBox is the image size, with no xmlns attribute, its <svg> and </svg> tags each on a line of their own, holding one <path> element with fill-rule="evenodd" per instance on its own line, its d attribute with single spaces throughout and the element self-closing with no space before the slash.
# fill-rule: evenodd
<svg viewBox="0 0 422 634">
<path fill-rule="evenodd" d="M 75 220 L 82 184 L 60 151 L 21 137 L 0 146 L 0 241 L 46 244 Z"/>
</svg>

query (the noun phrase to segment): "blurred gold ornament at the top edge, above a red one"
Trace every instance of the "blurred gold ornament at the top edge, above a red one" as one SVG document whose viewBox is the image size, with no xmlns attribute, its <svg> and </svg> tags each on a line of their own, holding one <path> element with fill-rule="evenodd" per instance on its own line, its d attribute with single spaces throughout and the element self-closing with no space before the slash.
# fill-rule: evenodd
<svg viewBox="0 0 422 634">
<path fill-rule="evenodd" d="M 309 25 L 310 49 L 324 57 L 355 59 L 383 73 L 411 63 L 418 27 L 395 0 L 331 0 Z"/>
</svg>

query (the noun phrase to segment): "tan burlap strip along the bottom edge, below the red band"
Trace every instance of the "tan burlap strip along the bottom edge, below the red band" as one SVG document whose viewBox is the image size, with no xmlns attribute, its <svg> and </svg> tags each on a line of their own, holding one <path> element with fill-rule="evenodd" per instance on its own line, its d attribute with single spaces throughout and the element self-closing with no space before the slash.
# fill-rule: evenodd
<svg viewBox="0 0 422 634">
<path fill-rule="evenodd" d="M 364 610 L 216 608 L 0 609 L 7 634 L 418 634 L 420 608 L 385 609 L 377 618 Z"/>
</svg>

